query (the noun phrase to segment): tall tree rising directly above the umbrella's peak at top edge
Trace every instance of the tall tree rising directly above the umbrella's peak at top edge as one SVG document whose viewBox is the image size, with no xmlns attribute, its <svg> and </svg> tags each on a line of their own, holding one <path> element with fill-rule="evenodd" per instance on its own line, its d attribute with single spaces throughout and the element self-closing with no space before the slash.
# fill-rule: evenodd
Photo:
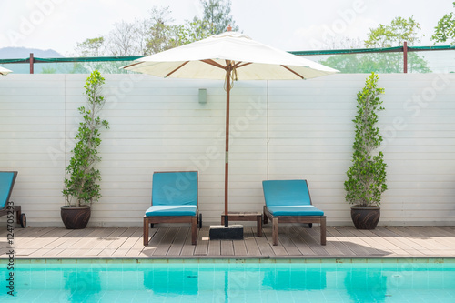
<svg viewBox="0 0 455 303">
<path fill-rule="evenodd" d="M 207 20 L 210 25 L 210 35 L 226 32 L 228 25 L 231 25 L 232 30 L 238 31 L 238 25 L 230 15 L 230 0 L 200 0 L 200 3 L 204 8 L 202 20 Z"/>
</svg>

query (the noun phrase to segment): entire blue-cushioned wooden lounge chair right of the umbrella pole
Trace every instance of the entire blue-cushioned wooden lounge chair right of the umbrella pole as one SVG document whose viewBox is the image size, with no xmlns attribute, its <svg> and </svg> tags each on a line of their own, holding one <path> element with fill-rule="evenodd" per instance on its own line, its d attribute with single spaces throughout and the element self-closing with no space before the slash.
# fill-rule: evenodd
<svg viewBox="0 0 455 303">
<path fill-rule="evenodd" d="M 320 224 L 320 244 L 326 245 L 326 216 L 311 203 L 307 180 L 262 181 L 264 224 L 272 221 L 273 245 L 278 245 L 278 223 Z"/>
</svg>

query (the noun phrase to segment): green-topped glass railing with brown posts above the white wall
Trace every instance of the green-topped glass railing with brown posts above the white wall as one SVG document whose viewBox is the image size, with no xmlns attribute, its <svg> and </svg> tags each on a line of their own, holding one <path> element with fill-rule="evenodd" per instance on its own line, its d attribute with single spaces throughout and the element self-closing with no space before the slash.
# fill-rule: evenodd
<svg viewBox="0 0 455 303">
<path fill-rule="evenodd" d="M 455 45 L 387 48 L 330 49 L 289 52 L 307 57 L 342 73 L 450 73 L 455 72 Z M 142 56 L 101 56 L 0 59 L 0 65 L 17 74 L 87 74 L 95 68 L 105 74 L 121 69 Z"/>
</svg>

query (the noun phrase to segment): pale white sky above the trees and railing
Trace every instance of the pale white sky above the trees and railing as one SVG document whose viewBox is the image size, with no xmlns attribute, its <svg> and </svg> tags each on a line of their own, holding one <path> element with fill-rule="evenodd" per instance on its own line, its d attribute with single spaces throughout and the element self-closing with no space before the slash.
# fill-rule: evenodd
<svg viewBox="0 0 455 303">
<path fill-rule="evenodd" d="M 453 0 L 231 0 L 231 15 L 244 34 L 287 51 L 327 48 L 339 37 L 365 40 L 370 28 L 396 16 L 420 23 L 420 45 Z M 0 48 L 24 46 L 74 55 L 77 42 L 106 35 L 117 22 L 144 19 L 152 7 L 169 6 L 176 24 L 202 16 L 199 0 L 0 0 Z"/>
</svg>

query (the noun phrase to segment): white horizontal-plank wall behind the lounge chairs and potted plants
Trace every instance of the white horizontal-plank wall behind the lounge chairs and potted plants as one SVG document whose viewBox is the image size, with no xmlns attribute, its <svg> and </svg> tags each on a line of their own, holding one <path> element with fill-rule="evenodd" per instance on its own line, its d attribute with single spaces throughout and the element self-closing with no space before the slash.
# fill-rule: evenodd
<svg viewBox="0 0 455 303">
<path fill-rule="evenodd" d="M 85 105 L 87 75 L 0 78 L 0 170 L 18 170 L 13 200 L 31 226 L 62 226 L 65 167 Z M 368 75 L 239 81 L 231 93 L 229 209 L 259 211 L 261 181 L 306 178 L 329 225 L 350 224 L 343 182 L 356 97 Z M 103 197 L 92 226 L 140 226 L 154 171 L 199 171 L 204 222 L 224 210 L 222 81 L 106 75 L 99 164 Z M 381 225 L 455 222 L 455 76 L 380 75 L 379 114 L 389 190 Z M 207 88 L 207 104 L 198 89 Z M 5 217 L 0 217 L 5 223 Z"/>
</svg>

